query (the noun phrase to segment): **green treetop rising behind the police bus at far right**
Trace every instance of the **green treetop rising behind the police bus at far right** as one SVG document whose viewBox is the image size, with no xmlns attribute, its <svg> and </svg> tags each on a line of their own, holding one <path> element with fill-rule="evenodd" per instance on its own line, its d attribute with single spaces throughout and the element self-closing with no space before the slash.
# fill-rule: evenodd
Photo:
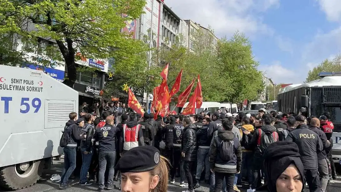
<svg viewBox="0 0 341 192">
<path fill-rule="evenodd" d="M 312 70 L 309 70 L 305 83 L 319 79 L 320 77 L 318 76 L 318 74 L 321 72 L 335 71 L 341 71 L 341 55 L 336 56 L 331 61 L 326 59 L 320 64 L 318 64 L 316 67 L 314 67 Z"/>
</svg>

